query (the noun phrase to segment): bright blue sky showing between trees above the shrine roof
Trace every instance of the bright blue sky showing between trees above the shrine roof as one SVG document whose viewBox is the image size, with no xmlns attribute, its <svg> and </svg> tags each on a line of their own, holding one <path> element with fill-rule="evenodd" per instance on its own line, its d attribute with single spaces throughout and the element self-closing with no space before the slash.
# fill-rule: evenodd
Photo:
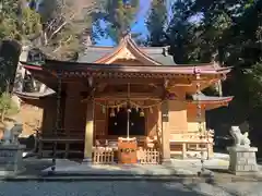
<svg viewBox="0 0 262 196">
<path fill-rule="evenodd" d="M 140 9 L 136 16 L 136 23 L 132 26 L 133 33 L 142 33 L 144 37 L 147 35 L 147 29 L 145 26 L 145 16 L 150 9 L 151 0 L 140 0 Z M 110 38 L 103 38 L 100 40 L 97 40 L 97 46 L 112 46 L 114 42 Z"/>
</svg>

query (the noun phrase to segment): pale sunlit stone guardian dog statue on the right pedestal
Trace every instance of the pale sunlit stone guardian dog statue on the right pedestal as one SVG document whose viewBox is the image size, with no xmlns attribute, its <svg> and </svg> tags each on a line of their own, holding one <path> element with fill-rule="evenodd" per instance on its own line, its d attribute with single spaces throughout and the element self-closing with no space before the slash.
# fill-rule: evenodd
<svg viewBox="0 0 262 196">
<path fill-rule="evenodd" d="M 229 132 L 234 138 L 236 147 L 250 147 L 250 139 L 248 138 L 248 132 L 242 134 L 239 126 L 231 126 Z"/>
</svg>

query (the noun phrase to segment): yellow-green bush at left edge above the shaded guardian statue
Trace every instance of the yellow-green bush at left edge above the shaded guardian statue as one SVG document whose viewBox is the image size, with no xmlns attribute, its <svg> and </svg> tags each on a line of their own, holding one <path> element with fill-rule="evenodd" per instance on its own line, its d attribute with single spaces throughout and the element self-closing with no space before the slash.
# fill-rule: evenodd
<svg viewBox="0 0 262 196">
<path fill-rule="evenodd" d="M 0 118 L 1 122 L 4 121 L 7 115 L 12 115 L 19 112 L 17 107 L 13 102 L 9 93 L 3 93 L 0 96 Z"/>
</svg>

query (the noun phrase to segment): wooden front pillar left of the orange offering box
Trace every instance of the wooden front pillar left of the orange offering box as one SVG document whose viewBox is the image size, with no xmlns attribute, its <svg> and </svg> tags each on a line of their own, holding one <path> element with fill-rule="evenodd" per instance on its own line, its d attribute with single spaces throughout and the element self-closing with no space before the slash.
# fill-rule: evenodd
<svg viewBox="0 0 262 196">
<path fill-rule="evenodd" d="M 94 102 L 90 100 L 86 108 L 86 124 L 85 124 L 85 147 L 84 161 L 92 162 L 92 149 L 94 137 Z"/>
</svg>

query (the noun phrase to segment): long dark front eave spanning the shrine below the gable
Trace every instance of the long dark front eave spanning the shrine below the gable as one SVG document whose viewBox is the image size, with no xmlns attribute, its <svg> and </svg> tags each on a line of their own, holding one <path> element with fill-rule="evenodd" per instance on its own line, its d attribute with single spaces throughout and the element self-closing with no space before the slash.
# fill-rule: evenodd
<svg viewBox="0 0 262 196">
<path fill-rule="evenodd" d="M 35 65 L 27 62 L 21 62 L 25 69 L 28 71 L 62 71 L 68 73 L 81 73 L 83 75 L 87 74 L 111 74 L 111 73 L 135 73 L 135 75 L 143 75 L 143 74 L 188 74 L 193 75 L 195 74 L 194 66 L 171 66 L 171 65 L 119 65 L 119 64 L 97 64 L 97 63 L 79 63 L 79 62 L 67 62 L 67 61 L 57 61 L 57 60 L 46 60 L 45 65 Z M 230 70 L 229 69 L 222 69 L 222 70 L 211 70 L 206 69 L 205 66 L 199 66 L 201 70 L 202 75 L 221 75 L 226 74 Z"/>
</svg>

